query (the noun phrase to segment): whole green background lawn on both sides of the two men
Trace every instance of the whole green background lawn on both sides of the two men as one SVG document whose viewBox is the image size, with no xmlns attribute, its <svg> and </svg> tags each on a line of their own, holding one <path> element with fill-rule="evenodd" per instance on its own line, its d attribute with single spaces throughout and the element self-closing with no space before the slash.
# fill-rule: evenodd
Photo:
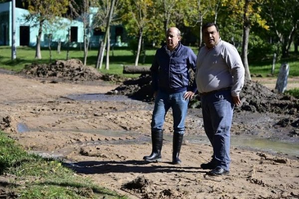
<svg viewBox="0 0 299 199">
<path fill-rule="evenodd" d="M 198 49 L 196 47 L 191 47 L 195 54 L 197 54 Z M 156 48 L 147 49 L 146 57 L 140 57 L 139 65 L 150 66 L 155 54 Z M 57 59 L 66 59 L 66 49 L 62 49 L 61 53 L 58 54 L 53 48 L 52 50 L 52 60 Z M 87 65 L 95 67 L 97 62 L 98 49 L 90 49 L 88 51 Z M 0 68 L 20 71 L 24 68 L 26 64 L 32 63 L 50 63 L 49 50 L 47 48 L 41 49 L 41 60 L 34 59 L 35 48 L 33 47 L 17 47 L 16 59 L 11 60 L 11 48 L 9 46 L 0 46 Z M 69 53 L 70 58 L 80 59 L 83 61 L 83 50 L 80 49 L 71 49 Z M 272 71 L 272 59 L 252 61 L 248 60 L 250 73 L 259 74 L 263 77 L 266 77 L 268 74 L 271 74 Z M 135 56 L 128 47 L 115 47 L 110 51 L 110 64 L 109 70 L 105 69 L 106 57 L 104 57 L 103 66 L 100 71 L 105 74 L 118 74 L 124 75 L 126 77 L 138 77 L 138 75 L 123 74 L 123 65 L 134 65 Z M 290 65 L 290 77 L 299 76 L 299 55 L 290 53 L 290 58 L 281 59 L 277 61 L 275 65 L 274 76 L 277 77 L 280 66 L 282 63 L 288 63 Z"/>
</svg>

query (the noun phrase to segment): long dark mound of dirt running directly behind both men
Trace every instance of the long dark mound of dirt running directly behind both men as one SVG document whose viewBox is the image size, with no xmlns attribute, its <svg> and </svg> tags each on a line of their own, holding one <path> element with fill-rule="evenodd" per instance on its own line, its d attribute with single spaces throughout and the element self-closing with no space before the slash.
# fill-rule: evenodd
<svg viewBox="0 0 299 199">
<path fill-rule="evenodd" d="M 124 81 L 121 86 L 108 92 L 108 94 L 120 94 L 137 100 L 152 101 L 153 91 L 150 84 L 150 75 L 141 75 L 139 78 Z M 244 88 L 240 93 L 240 98 L 242 100 L 242 106 L 236 107 L 236 111 L 274 112 L 299 117 L 299 99 L 271 91 L 267 87 L 254 81 L 245 82 Z M 198 95 L 195 95 L 190 106 L 200 108 Z M 296 127 L 298 126 L 299 119 L 289 119 L 288 122 Z"/>
</svg>

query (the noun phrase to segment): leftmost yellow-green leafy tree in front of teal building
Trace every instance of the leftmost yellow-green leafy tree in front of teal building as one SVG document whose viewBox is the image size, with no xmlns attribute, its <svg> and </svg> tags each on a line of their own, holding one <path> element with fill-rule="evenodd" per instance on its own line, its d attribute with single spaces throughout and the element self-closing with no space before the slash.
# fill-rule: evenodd
<svg viewBox="0 0 299 199">
<path fill-rule="evenodd" d="M 36 36 L 35 59 L 41 59 L 40 39 L 45 21 L 51 23 L 66 13 L 69 0 L 28 0 L 28 4 L 29 14 L 26 19 L 39 27 Z"/>
</svg>

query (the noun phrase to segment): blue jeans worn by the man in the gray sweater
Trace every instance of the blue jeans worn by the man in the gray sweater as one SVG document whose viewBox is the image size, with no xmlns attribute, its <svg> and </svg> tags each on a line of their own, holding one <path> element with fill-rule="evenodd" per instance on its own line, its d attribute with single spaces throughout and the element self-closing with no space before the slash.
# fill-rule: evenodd
<svg viewBox="0 0 299 199">
<path fill-rule="evenodd" d="M 234 110 L 231 92 L 219 91 L 201 96 L 201 107 L 204 130 L 213 147 L 212 162 L 229 171 L 230 128 Z"/>
</svg>

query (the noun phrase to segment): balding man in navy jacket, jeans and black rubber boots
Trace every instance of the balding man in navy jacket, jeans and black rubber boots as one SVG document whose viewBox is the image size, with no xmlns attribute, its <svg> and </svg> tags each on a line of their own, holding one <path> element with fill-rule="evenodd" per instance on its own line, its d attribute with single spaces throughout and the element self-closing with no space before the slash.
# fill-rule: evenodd
<svg viewBox="0 0 299 199">
<path fill-rule="evenodd" d="M 196 55 L 180 43 L 180 31 L 171 27 L 166 32 L 166 45 L 156 51 L 150 71 L 154 90 L 154 109 L 151 119 L 152 151 L 143 159 L 147 162 L 160 162 L 163 141 L 164 118 L 172 108 L 173 116 L 173 151 L 172 163 L 180 164 L 178 158 L 183 135 L 185 117 L 189 100 L 196 92 L 195 81 L 189 85 L 189 69 L 195 72 Z"/>
</svg>

